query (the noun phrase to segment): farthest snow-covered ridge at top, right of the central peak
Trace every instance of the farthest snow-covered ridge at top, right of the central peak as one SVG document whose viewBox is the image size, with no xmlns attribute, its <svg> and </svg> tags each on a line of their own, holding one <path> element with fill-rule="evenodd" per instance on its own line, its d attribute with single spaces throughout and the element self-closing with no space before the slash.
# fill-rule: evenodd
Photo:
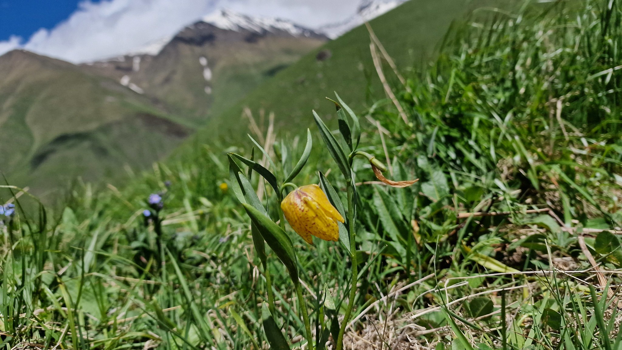
<svg viewBox="0 0 622 350">
<path fill-rule="evenodd" d="M 391 11 L 407 0 L 363 0 L 356 10 L 356 14 L 344 21 L 322 25 L 318 31 L 326 34 L 330 39 L 335 39 L 348 30 L 358 27 L 366 21 Z"/>
</svg>

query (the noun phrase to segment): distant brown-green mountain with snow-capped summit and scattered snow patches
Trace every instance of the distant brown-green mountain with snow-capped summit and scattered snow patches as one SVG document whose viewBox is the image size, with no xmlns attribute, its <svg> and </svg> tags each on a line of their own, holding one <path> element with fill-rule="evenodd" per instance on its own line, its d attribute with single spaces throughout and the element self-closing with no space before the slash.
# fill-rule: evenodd
<svg viewBox="0 0 622 350">
<path fill-rule="evenodd" d="M 181 30 L 155 56 L 127 55 L 84 67 L 200 126 L 326 40 L 289 21 L 218 11 Z"/>
</svg>

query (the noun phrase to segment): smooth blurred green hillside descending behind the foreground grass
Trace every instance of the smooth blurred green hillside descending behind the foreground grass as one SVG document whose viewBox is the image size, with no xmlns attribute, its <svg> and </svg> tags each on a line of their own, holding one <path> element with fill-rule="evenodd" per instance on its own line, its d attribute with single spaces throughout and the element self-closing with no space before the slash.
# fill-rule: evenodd
<svg viewBox="0 0 622 350">
<path fill-rule="evenodd" d="M 370 24 L 397 67 L 412 67 L 413 63 L 416 66 L 429 60 L 454 20 L 490 3 L 493 1 L 411 0 Z M 322 56 L 328 58 L 322 59 Z M 384 70 L 389 79 L 394 77 L 388 65 Z M 399 83 L 390 82 L 393 86 Z M 321 116 L 332 115 L 334 108 L 324 97 L 334 96 L 333 91 L 352 105 L 370 104 L 384 98 L 364 25 L 280 71 L 234 108 L 213 119 L 199 137 L 211 139 L 217 132 L 225 141 L 239 139 L 247 130 L 247 120 L 241 116 L 246 106 L 254 112 L 259 109 L 274 112 L 277 126 L 282 130 L 299 130 L 312 122 L 312 109 Z"/>
</svg>

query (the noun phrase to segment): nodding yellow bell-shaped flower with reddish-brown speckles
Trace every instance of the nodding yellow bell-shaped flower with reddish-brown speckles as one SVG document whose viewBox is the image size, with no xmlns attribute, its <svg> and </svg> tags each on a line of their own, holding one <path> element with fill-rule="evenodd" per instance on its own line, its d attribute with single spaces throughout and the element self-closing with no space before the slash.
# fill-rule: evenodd
<svg viewBox="0 0 622 350">
<path fill-rule="evenodd" d="M 291 191 L 281 202 L 281 209 L 292 229 L 305 242 L 313 244 L 311 235 L 324 241 L 339 239 L 337 221 L 345 220 L 315 183 Z"/>
</svg>

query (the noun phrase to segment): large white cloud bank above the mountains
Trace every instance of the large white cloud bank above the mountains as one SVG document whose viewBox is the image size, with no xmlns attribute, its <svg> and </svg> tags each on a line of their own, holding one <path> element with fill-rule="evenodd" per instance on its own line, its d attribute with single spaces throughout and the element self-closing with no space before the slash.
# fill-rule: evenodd
<svg viewBox="0 0 622 350">
<path fill-rule="evenodd" d="M 0 42 L 0 54 L 23 47 L 70 62 L 122 55 L 170 37 L 185 25 L 226 7 L 251 16 L 290 19 L 308 27 L 351 16 L 361 0 L 103 0 L 80 3 L 51 30 L 40 29 L 24 45 L 21 38 Z"/>
</svg>

